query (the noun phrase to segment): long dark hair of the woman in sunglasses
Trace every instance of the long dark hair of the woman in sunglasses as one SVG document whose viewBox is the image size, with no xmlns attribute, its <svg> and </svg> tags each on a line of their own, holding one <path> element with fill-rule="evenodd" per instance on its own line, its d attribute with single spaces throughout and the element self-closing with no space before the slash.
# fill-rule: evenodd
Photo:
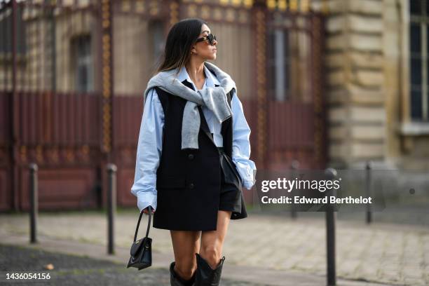
<svg viewBox="0 0 429 286">
<path fill-rule="evenodd" d="M 177 22 L 168 32 L 161 64 L 156 73 L 177 69 L 177 73 L 191 57 L 190 50 L 207 22 L 199 18 L 188 18 Z"/>
</svg>

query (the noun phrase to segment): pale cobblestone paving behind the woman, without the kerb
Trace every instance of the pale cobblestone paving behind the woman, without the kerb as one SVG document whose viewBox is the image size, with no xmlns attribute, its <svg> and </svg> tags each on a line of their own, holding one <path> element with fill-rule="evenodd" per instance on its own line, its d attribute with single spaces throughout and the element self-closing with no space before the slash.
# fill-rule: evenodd
<svg viewBox="0 0 429 286">
<path fill-rule="evenodd" d="M 137 219 L 138 210 L 116 216 L 116 245 L 130 246 Z M 27 235 L 28 214 L 1 215 L 1 233 Z M 38 233 L 107 245 L 107 217 L 100 212 L 41 213 Z M 223 254 L 229 264 L 325 275 L 325 235 L 323 214 L 291 220 L 249 213 L 247 219 L 231 221 Z M 169 231 L 152 228 L 150 236 L 154 252 L 172 253 Z M 429 229 L 337 220 L 336 273 L 339 278 L 390 285 L 429 285 Z"/>
</svg>

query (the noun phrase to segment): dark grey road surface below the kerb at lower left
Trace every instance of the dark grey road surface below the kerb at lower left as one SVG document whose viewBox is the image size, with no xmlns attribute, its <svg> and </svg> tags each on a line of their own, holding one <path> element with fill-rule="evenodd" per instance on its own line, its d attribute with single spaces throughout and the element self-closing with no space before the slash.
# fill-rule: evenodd
<svg viewBox="0 0 429 286">
<path fill-rule="evenodd" d="M 31 261 L 31 263 L 29 263 Z M 44 268 L 53 265 L 53 270 Z M 26 270 L 22 271 L 25 266 Z M 135 271 L 132 271 L 135 270 Z M 170 273 L 163 268 L 147 268 L 142 271 L 124 268 L 123 264 L 57 254 L 27 247 L 0 245 L 0 285 L 170 285 Z M 49 273 L 44 280 L 6 280 L 6 273 Z M 37 276 L 36 276 L 37 277 Z M 262 286 L 250 282 L 232 281 L 222 278 L 225 286 Z"/>
</svg>

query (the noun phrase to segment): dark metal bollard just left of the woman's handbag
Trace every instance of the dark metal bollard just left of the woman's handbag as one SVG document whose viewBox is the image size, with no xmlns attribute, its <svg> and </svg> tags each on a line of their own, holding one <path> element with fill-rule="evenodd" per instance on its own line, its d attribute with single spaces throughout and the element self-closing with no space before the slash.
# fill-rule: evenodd
<svg viewBox="0 0 429 286">
<path fill-rule="evenodd" d="M 107 164 L 107 172 L 109 173 L 109 193 L 107 194 L 107 253 L 114 254 L 114 215 L 116 214 L 116 165 L 113 163 Z"/>
</svg>

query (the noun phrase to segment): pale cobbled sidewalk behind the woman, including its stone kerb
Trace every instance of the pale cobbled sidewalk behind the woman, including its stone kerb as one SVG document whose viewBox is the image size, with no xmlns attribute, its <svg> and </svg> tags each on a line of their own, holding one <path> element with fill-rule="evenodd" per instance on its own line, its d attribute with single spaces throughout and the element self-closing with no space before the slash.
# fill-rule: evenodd
<svg viewBox="0 0 429 286">
<path fill-rule="evenodd" d="M 123 263 L 137 218 L 138 212 L 132 211 L 117 215 L 117 254 L 108 256 L 105 214 L 41 213 L 39 246 Z M 143 236 L 145 222 L 139 236 Z M 150 236 L 154 238 L 154 267 L 167 271 L 172 261 L 170 233 L 152 228 Z M 28 214 L 2 214 L 0 241 L 29 245 Z M 337 221 L 336 242 L 338 285 L 429 284 L 427 228 Z M 231 221 L 223 250 L 228 262 L 223 277 L 261 285 L 325 285 L 325 245 L 323 219 L 291 221 L 250 213 L 247 219 Z"/>
</svg>

